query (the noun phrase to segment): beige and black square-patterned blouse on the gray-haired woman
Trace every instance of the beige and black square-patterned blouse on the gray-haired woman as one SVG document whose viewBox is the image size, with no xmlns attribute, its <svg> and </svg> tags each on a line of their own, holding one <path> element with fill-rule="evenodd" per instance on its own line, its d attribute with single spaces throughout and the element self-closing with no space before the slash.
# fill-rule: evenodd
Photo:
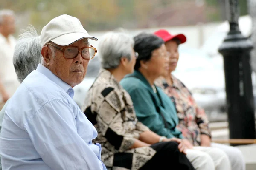
<svg viewBox="0 0 256 170">
<path fill-rule="evenodd" d="M 140 133 L 149 129 L 138 122 L 131 97 L 109 71 L 99 72 L 84 108 L 98 131 L 93 142 L 102 145 L 101 159 L 108 170 L 138 170 L 156 153 L 151 147 L 130 149 Z"/>
</svg>

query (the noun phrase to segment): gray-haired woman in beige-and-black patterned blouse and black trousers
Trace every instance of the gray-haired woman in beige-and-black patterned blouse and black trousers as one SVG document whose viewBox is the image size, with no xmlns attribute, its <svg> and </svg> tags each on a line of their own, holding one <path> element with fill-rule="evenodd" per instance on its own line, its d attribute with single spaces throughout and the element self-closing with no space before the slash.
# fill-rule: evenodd
<svg viewBox="0 0 256 170">
<path fill-rule="evenodd" d="M 138 122 L 129 94 L 119 85 L 134 71 L 133 46 L 123 31 L 109 32 L 99 42 L 102 69 L 83 111 L 99 133 L 93 142 L 102 144 L 102 161 L 110 170 L 194 170 L 180 139 L 165 139 Z"/>
</svg>

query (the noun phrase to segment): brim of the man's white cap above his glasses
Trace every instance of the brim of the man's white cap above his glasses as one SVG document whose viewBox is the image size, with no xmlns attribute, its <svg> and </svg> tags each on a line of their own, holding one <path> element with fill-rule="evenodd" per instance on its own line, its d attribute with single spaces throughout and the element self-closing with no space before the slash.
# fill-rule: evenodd
<svg viewBox="0 0 256 170">
<path fill-rule="evenodd" d="M 89 38 L 89 39 L 95 40 L 95 41 L 98 40 L 96 37 L 92 37 L 83 32 L 74 32 L 74 33 L 70 33 L 70 34 L 61 35 L 55 39 L 52 39 L 51 41 L 57 45 L 67 46 L 67 45 L 73 44 L 74 42 L 81 40 L 83 38 Z"/>
</svg>

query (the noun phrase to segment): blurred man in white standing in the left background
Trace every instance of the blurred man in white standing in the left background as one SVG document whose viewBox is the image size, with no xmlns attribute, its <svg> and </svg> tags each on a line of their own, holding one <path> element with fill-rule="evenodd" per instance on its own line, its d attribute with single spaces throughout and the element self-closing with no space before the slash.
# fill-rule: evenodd
<svg viewBox="0 0 256 170">
<path fill-rule="evenodd" d="M 16 44 L 12 34 L 15 33 L 15 17 L 12 10 L 0 10 L 0 109 L 16 91 L 20 83 L 17 81 L 12 64 Z"/>
</svg>

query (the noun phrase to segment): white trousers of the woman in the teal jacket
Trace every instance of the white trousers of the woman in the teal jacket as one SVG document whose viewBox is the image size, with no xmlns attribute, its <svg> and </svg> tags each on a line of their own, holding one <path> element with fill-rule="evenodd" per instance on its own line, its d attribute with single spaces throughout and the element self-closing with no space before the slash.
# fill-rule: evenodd
<svg viewBox="0 0 256 170">
<path fill-rule="evenodd" d="M 196 170 L 231 170 L 227 154 L 218 148 L 194 147 L 186 156 Z"/>
</svg>

